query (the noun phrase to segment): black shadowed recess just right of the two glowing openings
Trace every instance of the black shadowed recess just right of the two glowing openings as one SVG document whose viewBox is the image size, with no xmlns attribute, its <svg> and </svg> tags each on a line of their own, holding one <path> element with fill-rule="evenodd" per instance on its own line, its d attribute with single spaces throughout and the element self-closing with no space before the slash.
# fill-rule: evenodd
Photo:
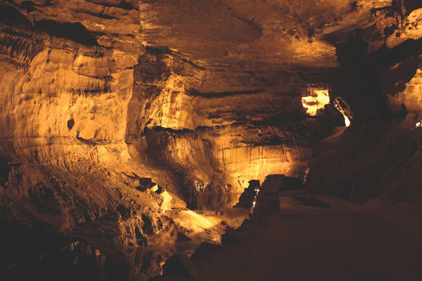
<svg viewBox="0 0 422 281">
<path fill-rule="evenodd" d="M 337 45 L 342 74 L 340 96 L 350 105 L 357 120 L 379 119 L 389 115 L 385 95 L 401 92 L 419 67 L 422 40 L 409 39 L 395 48 L 386 46 L 368 54 L 355 38 Z M 391 68 L 399 63 L 402 67 Z"/>
</svg>

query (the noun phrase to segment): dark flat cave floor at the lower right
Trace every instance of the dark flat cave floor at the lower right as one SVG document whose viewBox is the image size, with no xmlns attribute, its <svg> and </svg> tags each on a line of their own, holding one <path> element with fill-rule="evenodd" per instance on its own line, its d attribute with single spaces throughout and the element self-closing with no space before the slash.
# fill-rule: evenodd
<svg viewBox="0 0 422 281">
<path fill-rule="evenodd" d="M 153 280 L 422 280 L 415 216 L 379 201 L 317 208 L 280 197 L 280 205 L 279 215 L 228 232 L 224 246 L 192 256 L 195 278 Z"/>
</svg>

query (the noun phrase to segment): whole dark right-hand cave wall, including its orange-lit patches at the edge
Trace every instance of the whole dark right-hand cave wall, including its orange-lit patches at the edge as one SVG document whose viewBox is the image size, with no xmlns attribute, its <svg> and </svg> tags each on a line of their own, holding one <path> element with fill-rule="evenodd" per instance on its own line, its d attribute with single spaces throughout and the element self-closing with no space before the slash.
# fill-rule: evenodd
<svg viewBox="0 0 422 281">
<path fill-rule="evenodd" d="M 355 123 L 314 150 L 315 192 L 420 204 L 421 12 L 413 1 L 374 6 L 370 21 L 339 42 L 342 93 Z"/>
</svg>

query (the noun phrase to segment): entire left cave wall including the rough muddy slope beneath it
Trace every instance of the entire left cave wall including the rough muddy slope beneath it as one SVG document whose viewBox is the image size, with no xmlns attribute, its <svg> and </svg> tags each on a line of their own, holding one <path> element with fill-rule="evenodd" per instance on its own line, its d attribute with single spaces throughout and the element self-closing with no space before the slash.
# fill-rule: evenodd
<svg viewBox="0 0 422 281">
<path fill-rule="evenodd" d="M 160 231 L 172 240 L 159 218 L 163 198 L 138 191 L 139 178 L 175 189 L 132 160 L 124 142 L 139 4 L 0 4 L 1 276 L 128 272 L 134 247 Z"/>
</svg>

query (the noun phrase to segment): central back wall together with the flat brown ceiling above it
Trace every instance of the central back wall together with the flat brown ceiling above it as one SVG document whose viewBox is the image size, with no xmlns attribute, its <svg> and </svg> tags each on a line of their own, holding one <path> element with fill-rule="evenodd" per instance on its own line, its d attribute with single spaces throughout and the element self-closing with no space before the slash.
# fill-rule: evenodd
<svg viewBox="0 0 422 281">
<path fill-rule="evenodd" d="M 312 147 L 344 125 L 332 105 L 327 118 L 309 119 L 301 101 L 338 78 L 334 46 L 312 36 L 339 15 L 292 4 L 142 1 L 127 142 L 215 192 L 268 174 L 303 177 Z"/>
</svg>

